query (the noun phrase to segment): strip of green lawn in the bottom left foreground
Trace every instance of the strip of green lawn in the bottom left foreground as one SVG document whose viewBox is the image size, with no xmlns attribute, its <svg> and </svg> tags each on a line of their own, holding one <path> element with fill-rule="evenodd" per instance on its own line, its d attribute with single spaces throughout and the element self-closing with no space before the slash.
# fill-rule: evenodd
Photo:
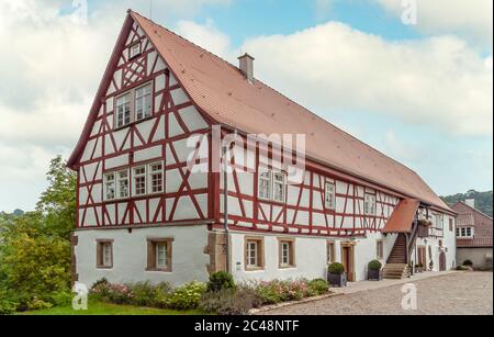
<svg viewBox="0 0 494 337">
<path fill-rule="evenodd" d="M 128 305 L 90 302 L 87 311 L 74 311 L 71 305 L 56 306 L 47 310 L 32 311 L 20 315 L 204 315 L 201 311 L 179 312 L 173 310 L 159 310 L 150 307 L 137 307 Z"/>
</svg>

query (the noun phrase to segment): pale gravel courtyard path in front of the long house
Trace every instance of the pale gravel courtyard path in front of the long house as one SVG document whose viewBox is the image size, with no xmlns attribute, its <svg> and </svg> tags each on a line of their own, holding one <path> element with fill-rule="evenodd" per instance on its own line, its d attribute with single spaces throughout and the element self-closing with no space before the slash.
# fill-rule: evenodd
<svg viewBox="0 0 494 337">
<path fill-rule="evenodd" d="M 492 272 L 465 272 L 416 281 L 417 311 L 402 308 L 403 285 L 278 308 L 263 315 L 492 315 Z"/>
</svg>

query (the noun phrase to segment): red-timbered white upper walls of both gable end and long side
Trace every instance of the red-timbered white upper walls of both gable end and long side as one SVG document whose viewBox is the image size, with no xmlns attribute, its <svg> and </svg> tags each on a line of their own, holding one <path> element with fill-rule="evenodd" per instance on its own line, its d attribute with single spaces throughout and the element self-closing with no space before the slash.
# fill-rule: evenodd
<svg viewBox="0 0 494 337">
<path fill-rule="evenodd" d="M 128 59 L 130 47 L 141 44 L 141 54 Z M 178 71 L 178 70 L 177 70 Z M 181 70 L 186 71 L 186 70 Z M 115 128 L 115 99 L 130 90 L 151 83 L 151 115 Z M 90 117 L 85 126 L 69 167 L 78 171 L 78 228 L 119 228 L 170 224 L 207 224 L 223 228 L 221 173 L 213 172 L 212 126 L 217 125 L 183 89 L 175 69 L 161 58 L 149 36 L 128 15 Z M 222 125 L 222 133 L 238 132 Z M 192 150 L 186 148 L 198 136 Z M 242 134 L 245 138 L 245 134 Z M 207 146 L 204 150 L 204 142 Z M 247 150 L 247 147 L 244 148 Z M 289 186 L 284 202 L 258 198 L 261 165 L 259 147 L 255 154 L 255 173 L 245 173 L 245 162 L 232 158 L 228 209 L 232 229 L 274 232 L 329 237 L 363 236 L 381 231 L 401 199 L 406 195 L 327 165 L 307 159 L 304 181 Z M 269 156 L 272 158 L 272 149 Z M 282 160 L 285 158 L 282 157 Z M 132 169 L 161 161 L 165 192 L 132 196 Z M 205 166 L 209 172 L 192 173 L 188 162 Z M 267 166 L 269 167 L 269 164 Z M 130 170 L 131 196 L 104 200 L 104 175 Z M 325 207 L 325 183 L 336 187 L 336 209 Z M 363 214 L 364 194 L 377 199 L 377 214 Z M 232 206 L 229 203 L 232 202 Z"/>
</svg>

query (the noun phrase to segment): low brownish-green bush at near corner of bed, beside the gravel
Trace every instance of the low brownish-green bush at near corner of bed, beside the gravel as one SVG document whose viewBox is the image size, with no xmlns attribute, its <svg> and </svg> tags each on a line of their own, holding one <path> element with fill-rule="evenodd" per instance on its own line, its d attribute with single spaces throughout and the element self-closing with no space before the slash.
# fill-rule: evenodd
<svg viewBox="0 0 494 337">
<path fill-rule="evenodd" d="M 199 307 L 217 315 L 247 315 L 251 308 L 261 304 L 261 299 L 252 288 L 238 287 L 205 293 Z"/>
</svg>

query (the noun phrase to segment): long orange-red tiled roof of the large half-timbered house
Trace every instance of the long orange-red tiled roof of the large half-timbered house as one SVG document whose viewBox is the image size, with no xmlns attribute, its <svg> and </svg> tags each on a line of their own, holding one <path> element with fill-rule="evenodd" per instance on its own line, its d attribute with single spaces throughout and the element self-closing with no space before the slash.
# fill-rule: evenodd
<svg viewBox="0 0 494 337">
<path fill-rule="evenodd" d="M 195 104 L 244 133 L 305 134 L 310 159 L 452 212 L 413 170 L 318 117 L 207 50 L 130 11 Z M 128 20 L 128 18 L 127 18 Z M 92 112 L 94 113 L 94 111 Z M 72 155 L 69 164 L 76 162 Z"/>
</svg>

